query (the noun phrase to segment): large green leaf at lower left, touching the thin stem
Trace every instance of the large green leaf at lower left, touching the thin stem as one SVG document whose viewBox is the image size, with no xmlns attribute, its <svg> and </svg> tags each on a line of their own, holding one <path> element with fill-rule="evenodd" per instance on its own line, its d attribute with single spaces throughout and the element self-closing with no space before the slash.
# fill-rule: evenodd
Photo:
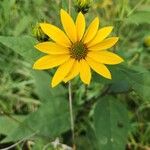
<svg viewBox="0 0 150 150">
<path fill-rule="evenodd" d="M 40 137 L 52 138 L 70 129 L 69 110 L 65 98 L 54 98 L 44 103 L 38 111 L 16 128 L 12 128 L 6 141 L 16 141 L 35 133 Z"/>
</svg>

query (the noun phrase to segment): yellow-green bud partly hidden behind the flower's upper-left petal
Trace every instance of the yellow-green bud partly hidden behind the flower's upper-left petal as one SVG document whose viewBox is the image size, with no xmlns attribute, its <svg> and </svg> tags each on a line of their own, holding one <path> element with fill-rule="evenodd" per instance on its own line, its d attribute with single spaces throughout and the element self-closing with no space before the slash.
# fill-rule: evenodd
<svg viewBox="0 0 150 150">
<path fill-rule="evenodd" d="M 39 23 L 33 28 L 33 36 L 40 42 L 45 42 L 49 40 L 49 37 L 42 31 Z"/>
</svg>

